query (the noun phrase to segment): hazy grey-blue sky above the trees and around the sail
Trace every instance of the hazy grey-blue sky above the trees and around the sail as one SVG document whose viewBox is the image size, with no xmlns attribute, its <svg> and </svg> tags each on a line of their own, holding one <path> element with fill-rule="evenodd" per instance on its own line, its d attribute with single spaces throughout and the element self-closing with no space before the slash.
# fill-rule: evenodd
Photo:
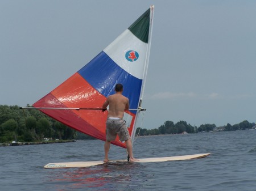
<svg viewBox="0 0 256 191">
<path fill-rule="evenodd" d="M 142 128 L 255 122 L 256 1 L 0 1 L 0 104 L 34 104 L 155 5 Z"/>
</svg>

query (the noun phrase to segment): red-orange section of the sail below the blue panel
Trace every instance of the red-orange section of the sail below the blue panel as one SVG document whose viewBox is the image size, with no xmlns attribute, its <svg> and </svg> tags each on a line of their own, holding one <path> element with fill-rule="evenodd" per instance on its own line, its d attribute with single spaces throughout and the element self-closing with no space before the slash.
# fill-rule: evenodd
<svg viewBox="0 0 256 191">
<path fill-rule="evenodd" d="M 80 74 L 75 73 L 33 105 L 41 108 L 101 108 L 105 100 L 105 96 L 90 86 Z M 73 129 L 105 141 L 105 122 L 108 112 L 89 109 L 79 111 L 75 109 L 40 109 L 40 111 Z M 118 136 L 112 143 L 126 148 L 125 144 L 119 141 Z"/>
</svg>

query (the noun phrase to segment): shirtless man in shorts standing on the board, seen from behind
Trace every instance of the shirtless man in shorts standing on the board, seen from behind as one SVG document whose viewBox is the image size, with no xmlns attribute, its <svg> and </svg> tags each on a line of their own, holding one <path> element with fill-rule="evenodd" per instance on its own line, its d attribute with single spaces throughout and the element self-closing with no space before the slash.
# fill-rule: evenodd
<svg viewBox="0 0 256 191">
<path fill-rule="evenodd" d="M 130 161 L 133 162 L 137 159 L 133 157 L 133 146 L 131 145 L 131 137 L 129 131 L 123 120 L 124 111 L 129 110 L 129 99 L 122 95 L 122 84 L 115 85 L 115 94 L 107 97 L 105 103 L 102 105 L 102 111 L 106 111 L 109 105 L 108 119 L 106 121 L 106 142 L 104 145 L 105 159 L 108 162 L 108 154 L 110 142 L 114 141 L 119 136 L 120 141 L 125 141 Z"/>
</svg>

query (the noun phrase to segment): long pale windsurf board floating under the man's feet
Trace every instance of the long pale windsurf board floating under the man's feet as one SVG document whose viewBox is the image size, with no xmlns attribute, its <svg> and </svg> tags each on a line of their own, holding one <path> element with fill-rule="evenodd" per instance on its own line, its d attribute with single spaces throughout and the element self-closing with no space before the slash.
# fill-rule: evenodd
<svg viewBox="0 0 256 191">
<path fill-rule="evenodd" d="M 161 158 L 144 158 L 135 161 L 134 163 L 152 163 L 152 162 L 166 162 L 172 160 L 189 160 L 189 159 L 200 159 L 209 156 L 210 153 L 196 154 L 196 155 L 183 155 L 183 156 L 168 156 Z M 108 163 L 114 162 L 127 162 L 127 160 L 110 160 Z M 88 162 L 68 162 L 68 163 L 49 163 L 44 168 L 81 168 L 91 167 L 93 165 L 104 164 L 103 161 L 88 161 Z"/>
</svg>

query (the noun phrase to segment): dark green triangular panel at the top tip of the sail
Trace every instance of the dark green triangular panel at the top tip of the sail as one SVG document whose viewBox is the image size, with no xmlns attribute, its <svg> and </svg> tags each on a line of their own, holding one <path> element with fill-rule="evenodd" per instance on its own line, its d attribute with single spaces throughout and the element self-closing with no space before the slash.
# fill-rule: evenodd
<svg viewBox="0 0 256 191">
<path fill-rule="evenodd" d="M 150 26 L 150 9 L 143 13 L 131 26 L 128 28 L 135 36 L 144 43 L 148 43 L 148 32 Z"/>
</svg>

